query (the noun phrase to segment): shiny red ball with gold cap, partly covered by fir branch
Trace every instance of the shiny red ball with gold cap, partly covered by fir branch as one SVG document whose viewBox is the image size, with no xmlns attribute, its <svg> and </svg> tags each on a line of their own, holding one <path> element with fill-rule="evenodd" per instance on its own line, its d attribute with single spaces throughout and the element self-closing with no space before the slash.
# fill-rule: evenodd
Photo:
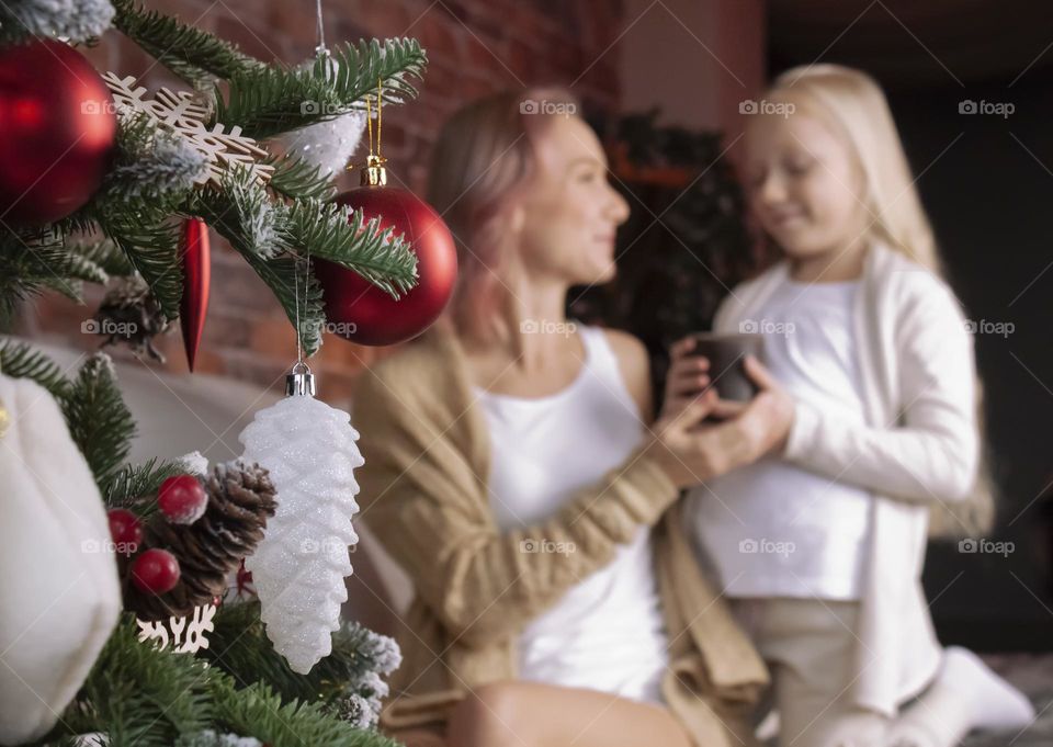
<svg viewBox="0 0 1053 747">
<path fill-rule="evenodd" d="M 337 197 L 340 205 L 362 208 L 365 217 L 382 216 L 381 226 L 401 234 L 417 254 L 418 283 L 398 301 L 361 275 L 319 260 L 326 318 L 333 331 L 360 344 L 395 344 L 417 337 L 442 314 L 457 279 L 453 235 L 431 205 L 392 186 L 361 186 Z"/>
</svg>

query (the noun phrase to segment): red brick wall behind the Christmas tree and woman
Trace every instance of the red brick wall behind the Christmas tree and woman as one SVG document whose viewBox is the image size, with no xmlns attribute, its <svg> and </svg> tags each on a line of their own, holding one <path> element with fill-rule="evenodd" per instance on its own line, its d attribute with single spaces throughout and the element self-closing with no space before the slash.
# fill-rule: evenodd
<svg viewBox="0 0 1053 747">
<path fill-rule="evenodd" d="M 261 59 L 298 63 L 316 44 L 310 0 L 146 0 L 148 8 L 176 14 L 237 42 Z M 330 46 L 360 37 L 412 36 L 430 64 L 420 98 L 385 110 L 384 150 L 390 172 L 422 192 L 430 149 L 443 120 L 463 102 L 520 83 L 573 86 L 586 102 L 613 109 L 619 102 L 618 0 L 327 0 Z M 151 58 L 111 32 L 89 53 L 100 70 L 144 76 L 154 89 L 179 83 Z M 361 151 L 360 151 L 361 152 Z M 352 185 L 344 177 L 347 186 Z M 262 386 L 279 386 L 294 359 L 294 336 L 281 307 L 245 261 L 213 235 L 212 298 L 197 370 Z M 88 305 L 46 297 L 25 309 L 20 333 L 93 349 L 98 338 L 80 333 L 101 292 L 89 288 Z M 178 330 L 158 341 L 165 369 L 185 371 Z M 115 356 L 127 351 L 111 349 Z M 376 354 L 327 336 L 312 360 L 320 394 L 339 401 L 354 376 Z"/>
</svg>

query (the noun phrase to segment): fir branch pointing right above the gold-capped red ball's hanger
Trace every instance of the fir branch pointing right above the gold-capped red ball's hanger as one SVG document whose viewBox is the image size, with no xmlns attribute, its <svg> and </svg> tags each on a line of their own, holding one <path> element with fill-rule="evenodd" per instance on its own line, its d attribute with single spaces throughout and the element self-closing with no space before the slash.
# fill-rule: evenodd
<svg viewBox="0 0 1053 747">
<path fill-rule="evenodd" d="M 332 118 L 350 111 L 380 84 L 392 103 L 417 95 L 409 78 L 419 78 L 428 58 L 416 39 L 373 39 L 341 45 L 307 69 L 268 65 L 239 71 L 224 99 L 215 90 L 214 123 L 238 123 L 258 140 Z"/>
</svg>

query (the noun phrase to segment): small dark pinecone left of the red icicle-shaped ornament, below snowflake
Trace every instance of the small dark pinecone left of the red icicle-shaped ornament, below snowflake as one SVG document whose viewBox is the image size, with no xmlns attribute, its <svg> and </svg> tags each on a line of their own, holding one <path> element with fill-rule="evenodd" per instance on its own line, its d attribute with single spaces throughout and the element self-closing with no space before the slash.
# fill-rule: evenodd
<svg viewBox="0 0 1053 747">
<path fill-rule="evenodd" d="M 169 322 L 150 286 L 139 275 L 118 278 L 95 312 L 94 331 L 106 338 L 103 346 L 123 342 L 135 352 L 165 362 L 154 347 L 154 337 L 168 331 Z"/>
</svg>

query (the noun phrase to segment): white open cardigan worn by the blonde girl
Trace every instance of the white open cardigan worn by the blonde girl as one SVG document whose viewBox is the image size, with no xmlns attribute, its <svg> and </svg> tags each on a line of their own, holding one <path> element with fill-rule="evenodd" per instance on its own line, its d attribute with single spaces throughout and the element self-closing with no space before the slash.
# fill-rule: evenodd
<svg viewBox="0 0 1053 747">
<path fill-rule="evenodd" d="M 759 324 L 788 273 L 783 261 L 736 287 L 714 331 Z M 881 244 L 868 251 L 853 324 L 865 425 L 797 403 L 783 456 L 874 495 L 852 697 L 891 716 L 940 663 L 921 568 L 930 505 L 965 500 L 977 477 L 975 360 L 947 284 Z"/>
</svg>

